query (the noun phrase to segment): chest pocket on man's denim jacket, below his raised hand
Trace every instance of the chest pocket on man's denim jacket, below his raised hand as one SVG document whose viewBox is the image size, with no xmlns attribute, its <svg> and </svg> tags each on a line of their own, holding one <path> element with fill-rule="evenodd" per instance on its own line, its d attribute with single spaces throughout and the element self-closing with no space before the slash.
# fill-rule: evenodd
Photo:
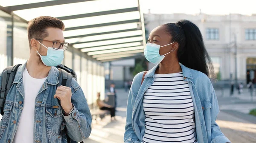
<svg viewBox="0 0 256 143">
<path fill-rule="evenodd" d="M 53 136 L 60 135 L 61 123 L 64 120 L 61 110 L 62 108 L 46 107 L 46 132 Z"/>
</svg>

